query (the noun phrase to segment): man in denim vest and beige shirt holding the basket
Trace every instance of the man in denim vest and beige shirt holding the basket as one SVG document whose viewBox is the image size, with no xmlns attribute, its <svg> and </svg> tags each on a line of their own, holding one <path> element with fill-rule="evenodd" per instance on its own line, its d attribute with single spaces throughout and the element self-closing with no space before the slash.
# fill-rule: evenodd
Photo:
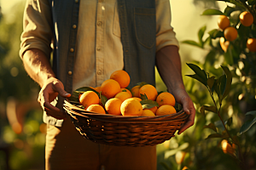
<svg viewBox="0 0 256 170">
<path fill-rule="evenodd" d="M 74 89 L 97 87 L 113 71 L 154 85 L 154 65 L 189 114 L 169 0 L 27 0 L 20 57 L 41 87 L 38 102 L 48 124 L 46 169 L 155 169 L 155 146 L 118 147 L 84 139 L 62 109 Z M 51 51 L 54 51 L 52 64 Z"/>
</svg>

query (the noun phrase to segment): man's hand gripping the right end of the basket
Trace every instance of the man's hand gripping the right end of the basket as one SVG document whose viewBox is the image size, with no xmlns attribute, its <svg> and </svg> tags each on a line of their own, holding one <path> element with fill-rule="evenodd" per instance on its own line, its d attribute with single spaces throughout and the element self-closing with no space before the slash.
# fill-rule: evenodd
<svg viewBox="0 0 256 170">
<path fill-rule="evenodd" d="M 189 115 L 189 118 L 185 124 L 179 129 L 178 134 L 183 133 L 187 128 L 194 125 L 195 122 L 195 107 L 192 100 L 189 98 L 189 94 L 180 88 L 173 92 L 173 95 L 177 102 L 183 105 L 183 111 Z"/>
</svg>

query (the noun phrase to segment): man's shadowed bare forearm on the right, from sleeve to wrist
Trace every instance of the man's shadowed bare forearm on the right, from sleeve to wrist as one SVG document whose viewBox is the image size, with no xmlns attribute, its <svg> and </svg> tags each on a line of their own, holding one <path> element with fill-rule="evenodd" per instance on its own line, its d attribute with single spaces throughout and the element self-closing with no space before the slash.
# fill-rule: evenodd
<svg viewBox="0 0 256 170">
<path fill-rule="evenodd" d="M 184 89 L 177 46 L 161 48 L 156 54 L 156 66 L 170 92 L 175 91 L 176 88 Z"/>
</svg>

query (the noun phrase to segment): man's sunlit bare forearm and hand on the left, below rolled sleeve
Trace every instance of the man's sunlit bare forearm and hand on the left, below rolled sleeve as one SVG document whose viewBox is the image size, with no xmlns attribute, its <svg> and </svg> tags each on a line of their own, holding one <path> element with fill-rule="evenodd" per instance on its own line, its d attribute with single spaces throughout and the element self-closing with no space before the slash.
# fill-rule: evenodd
<svg viewBox="0 0 256 170">
<path fill-rule="evenodd" d="M 62 97 L 70 97 L 64 90 L 61 81 L 55 78 L 55 74 L 49 64 L 49 58 L 39 49 L 29 49 L 22 56 L 26 72 L 41 87 L 38 94 L 38 102 L 46 111 L 46 114 L 57 119 L 65 118 L 65 114 L 60 109 L 50 104 L 58 94 Z"/>
</svg>

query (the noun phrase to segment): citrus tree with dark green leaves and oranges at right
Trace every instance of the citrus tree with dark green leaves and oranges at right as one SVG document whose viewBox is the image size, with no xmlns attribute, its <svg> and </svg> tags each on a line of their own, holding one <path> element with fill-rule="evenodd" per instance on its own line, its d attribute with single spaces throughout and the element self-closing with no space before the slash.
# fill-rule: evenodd
<svg viewBox="0 0 256 170">
<path fill-rule="evenodd" d="M 200 108 L 204 116 L 215 114 L 204 126 L 211 132 L 207 141 L 214 141 L 236 160 L 237 168 L 252 169 L 255 166 L 256 1 L 216 2 L 226 3 L 224 11 L 207 8 L 202 15 L 218 15 L 217 27 L 206 33 L 207 26 L 203 26 L 198 31 L 198 41 L 183 41 L 208 51 L 203 62 L 188 64 L 195 71 L 188 76 L 201 82 L 212 99 L 201 102 Z"/>
</svg>

